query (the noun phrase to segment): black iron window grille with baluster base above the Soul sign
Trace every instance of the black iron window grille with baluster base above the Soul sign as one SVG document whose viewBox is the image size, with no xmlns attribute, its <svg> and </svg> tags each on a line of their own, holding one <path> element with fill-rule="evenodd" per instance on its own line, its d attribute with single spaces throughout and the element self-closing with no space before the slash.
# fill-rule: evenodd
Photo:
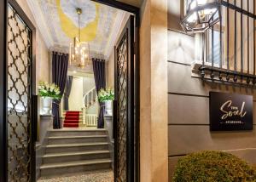
<svg viewBox="0 0 256 182">
<path fill-rule="evenodd" d="M 221 16 L 218 24 L 202 35 L 202 63 L 199 67 L 201 77 L 206 80 L 254 86 L 256 2 L 220 2 Z"/>
</svg>

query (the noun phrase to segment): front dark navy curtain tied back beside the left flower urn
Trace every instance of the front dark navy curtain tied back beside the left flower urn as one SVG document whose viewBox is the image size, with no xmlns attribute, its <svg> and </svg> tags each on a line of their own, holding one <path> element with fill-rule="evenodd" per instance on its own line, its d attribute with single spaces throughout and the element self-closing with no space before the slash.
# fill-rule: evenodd
<svg viewBox="0 0 256 182">
<path fill-rule="evenodd" d="M 64 93 L 67 81 L 68 54 L 52 52 L 52 82 L 60 87 L 61 96 Z M 54 100 L 52 104 L 52 114 L 54 116 L 53 127 L 61 128 L 60 119 L 60 103 L 61 100 Z"/>
</svg>

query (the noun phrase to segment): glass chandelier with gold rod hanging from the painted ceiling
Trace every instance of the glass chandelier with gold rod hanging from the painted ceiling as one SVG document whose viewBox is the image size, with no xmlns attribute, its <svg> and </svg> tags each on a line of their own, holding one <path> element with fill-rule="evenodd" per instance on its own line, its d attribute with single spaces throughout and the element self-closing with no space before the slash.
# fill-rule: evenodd
<svg viewBox="0 0 256 182">
<path fill-rule="evenodd" d="M 73 43 L 69 45 L 69 62 L 70 65 L 84 68 L 85 65 L 90 63 L 90 46 L 89 43 L 81 42 L 81 27 L 80 27 L 80 15 L 82 9 L 76 9 L 79 15 L 79 37 L 73 38 Z"/>
</svg>

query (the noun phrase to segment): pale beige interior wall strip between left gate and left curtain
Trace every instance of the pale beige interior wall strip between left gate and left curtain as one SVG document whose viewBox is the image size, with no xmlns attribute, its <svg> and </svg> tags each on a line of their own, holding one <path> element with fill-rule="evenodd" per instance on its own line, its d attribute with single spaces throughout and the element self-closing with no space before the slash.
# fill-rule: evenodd
<svg viewBox="0 0 256 182">
<path fill-rule="evenodd" d="M 26 13 L 29 20 L 32 21 L 32 24 L 37 28 L 36 21 L 26 1 L 16 1 L 20 4 L 21 9 Z M 46 43 L 44 43 L 44 39 L 40 31 L 38 31 L 38 28 L 36 32 L 36 73 L 36 85 L 38 85 L 39 81 L 49 82 L 49 49 L 46 47 Z"/>
</svg>

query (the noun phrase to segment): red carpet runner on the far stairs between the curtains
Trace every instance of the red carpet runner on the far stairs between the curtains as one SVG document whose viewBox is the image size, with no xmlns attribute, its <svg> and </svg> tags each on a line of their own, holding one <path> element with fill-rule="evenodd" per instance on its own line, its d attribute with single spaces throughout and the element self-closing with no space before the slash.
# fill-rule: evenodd
<svg viewBox="0 0 256 182">
<path fill-rule="evenodd" d="M 79 115 L 79 111 L 67 111 L 63 127 L 79 128 Z"/>
</svg>

